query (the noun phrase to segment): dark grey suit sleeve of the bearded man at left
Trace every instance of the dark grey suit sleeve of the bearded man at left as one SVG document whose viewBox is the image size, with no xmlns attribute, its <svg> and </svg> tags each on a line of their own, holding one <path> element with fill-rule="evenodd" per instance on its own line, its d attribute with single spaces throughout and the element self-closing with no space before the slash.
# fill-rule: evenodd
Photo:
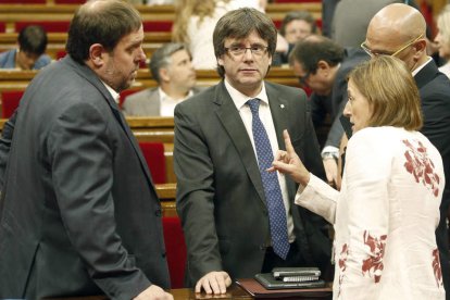
<svg viewBox="0 0 450 300">
<path fill-rule="evenodd" d="M 93 282 L 114 299 L 150 286 L 122 245 L 114 218 L 113 145 L 108 118 L 93 105 L 67 108 L 46 141 L 61 218 Z"/>
</svg>

